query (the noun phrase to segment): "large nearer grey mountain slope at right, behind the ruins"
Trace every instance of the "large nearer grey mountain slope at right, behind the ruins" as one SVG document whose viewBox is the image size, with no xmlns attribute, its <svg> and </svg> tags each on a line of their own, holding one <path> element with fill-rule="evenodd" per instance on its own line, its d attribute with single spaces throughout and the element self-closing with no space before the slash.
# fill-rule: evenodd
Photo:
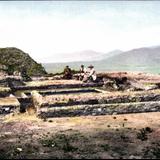
<svg viewBox="0 0 160 160">
<path fill-rule="evenodd" d="M 133 49 L 94 63 L 98 70 L 160 72 L 160 46 Z"/>
</svg>

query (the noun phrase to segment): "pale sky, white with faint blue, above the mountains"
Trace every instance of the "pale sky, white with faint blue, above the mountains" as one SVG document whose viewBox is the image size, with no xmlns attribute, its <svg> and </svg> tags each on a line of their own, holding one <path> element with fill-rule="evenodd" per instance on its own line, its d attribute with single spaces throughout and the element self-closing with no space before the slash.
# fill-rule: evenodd
<svg viewBox="0 0 160 160">
<path fill-rule="evenodd" d="M 159 1 L 0 1 L 0 47 L 36 61 L 160 45 Z"/>
</svg>

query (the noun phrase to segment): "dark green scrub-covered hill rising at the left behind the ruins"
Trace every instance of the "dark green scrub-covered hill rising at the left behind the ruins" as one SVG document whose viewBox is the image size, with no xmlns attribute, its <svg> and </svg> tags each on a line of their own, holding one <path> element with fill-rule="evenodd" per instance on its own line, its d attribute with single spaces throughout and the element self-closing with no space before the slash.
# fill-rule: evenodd
<svg viewBox="0 0 160 160">
<path fill-rule="evenodd" d="M 0 48 L 0 64 L 6 66 L 8 74 L 14 71 L 21 72 L 22 69 L 25 69 L 29 76 L 46 74 L 41 64 L 34 61 L 29 54 L 14 47 Z"/>
</svg>

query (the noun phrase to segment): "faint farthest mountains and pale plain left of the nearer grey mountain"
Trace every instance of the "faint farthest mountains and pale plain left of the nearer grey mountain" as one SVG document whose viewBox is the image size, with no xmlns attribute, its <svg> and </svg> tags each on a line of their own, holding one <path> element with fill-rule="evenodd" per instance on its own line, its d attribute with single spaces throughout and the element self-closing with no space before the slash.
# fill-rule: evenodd
<svg viewBox="0 0 160 160">
<path fill-rule="evenodd" d="M 63 59 L 65 59 L 67 62 L 43 63 L 43 66 L 50 73 L 62 72 L 66 65 L 70 65 L 71 68 L 77 70 L 81 64 L 88 66 L 91 63 L 99 63 L 101 60 L 118 55 L 120 53 L 122 53 L 120 50 L 114 50 L 108 53 L 85 50 L 72 54 L 66 54 Z M 56 60 L 58 61 L 58 57 Z"/>
</svg>

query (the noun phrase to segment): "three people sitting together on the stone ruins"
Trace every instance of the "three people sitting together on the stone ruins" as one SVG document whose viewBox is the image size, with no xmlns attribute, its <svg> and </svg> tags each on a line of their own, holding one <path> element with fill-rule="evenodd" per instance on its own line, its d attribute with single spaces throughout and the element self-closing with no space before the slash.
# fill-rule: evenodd
<svg viewBox="0 0 160 160">
<path fill-rule="evenodd" d="M 73 73 L 69 66 L 66 66 L 64 69 L 64 79 L 72 79 Z M 93 65 L 89 65 L 86 68 L 84 65 L 81 65 L 79 73 L 77 74 L 78 80 L 83 82 L 96 82 L 97 75 Z"/>
</svg>

